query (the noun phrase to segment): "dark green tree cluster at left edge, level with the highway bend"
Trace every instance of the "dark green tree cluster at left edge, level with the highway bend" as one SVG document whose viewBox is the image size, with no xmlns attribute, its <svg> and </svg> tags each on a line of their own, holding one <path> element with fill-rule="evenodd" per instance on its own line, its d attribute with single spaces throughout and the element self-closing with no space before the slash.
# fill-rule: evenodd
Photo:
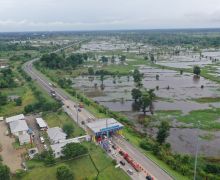
<svg viewBox="0 0 220 180">
<path fill-rule="evenodd" d="M 14 81 L 14 74 L 10 68 L 2 69 L 0 71 L 0 88 L 16 87 Z"/>
</svg>

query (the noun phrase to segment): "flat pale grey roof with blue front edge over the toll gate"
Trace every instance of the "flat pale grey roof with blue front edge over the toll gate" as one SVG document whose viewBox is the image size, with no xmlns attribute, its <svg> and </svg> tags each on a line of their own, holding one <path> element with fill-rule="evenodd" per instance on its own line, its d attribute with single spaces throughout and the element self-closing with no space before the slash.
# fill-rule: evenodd
<svg viewBox="0 0 220 180">
<path fill-rule="evenodd" d="M 112 130 L 114 128 L 123 128 L 124 126 L 113 118 L 97 119 L 95 122 L 87 124 L 87 127 L 94 133 Z"/>
</svg>

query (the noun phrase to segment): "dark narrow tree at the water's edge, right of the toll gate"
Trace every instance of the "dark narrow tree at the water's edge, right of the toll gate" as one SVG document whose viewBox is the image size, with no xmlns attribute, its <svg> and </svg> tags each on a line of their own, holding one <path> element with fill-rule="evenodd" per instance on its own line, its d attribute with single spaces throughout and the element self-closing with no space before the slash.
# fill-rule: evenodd
<svg viewBox="0 0 220 180">
<path fill-rule="evenodd" d="M 166 138 L 169 136 L 169 130 L 169 123 L 167 121 L 162 121 L 157 133 L 157 142 L 159 144 L 163 144 L 166 141 Z"/>
</svg>

